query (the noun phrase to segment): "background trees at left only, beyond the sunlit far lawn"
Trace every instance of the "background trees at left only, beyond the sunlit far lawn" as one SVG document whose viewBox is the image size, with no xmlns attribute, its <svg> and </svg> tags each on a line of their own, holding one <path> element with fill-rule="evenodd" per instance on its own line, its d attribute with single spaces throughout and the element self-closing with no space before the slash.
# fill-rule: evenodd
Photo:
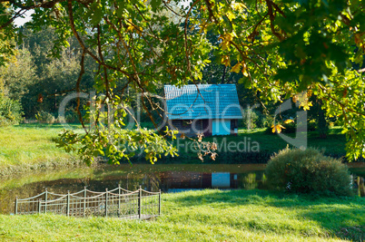
<svg viewBox="0 0 365 242">
<path fill-rule="evenodd" d="M 52 113 L 56 118 L 64 95 L 74 92 L 74 83 L 80 72 L 80 49 L 70 38 L 69 46 L 63 48 L 58 58 L 53 58 L 53 28 L 35 33 L 22 27 L 20 32 L 23 39 L 16 46 L 14 58 L 0 67 L 3 97 L 20 104 L 25 119 L 35 119 L 39 111 Z M 83 92 L 93 89 L 94 69 L 95 64 L 86 58 L 81 82 Z M 73 109 L 74 105 L 70 105 L 69 117 L 77 121 Z"/>
</svg>

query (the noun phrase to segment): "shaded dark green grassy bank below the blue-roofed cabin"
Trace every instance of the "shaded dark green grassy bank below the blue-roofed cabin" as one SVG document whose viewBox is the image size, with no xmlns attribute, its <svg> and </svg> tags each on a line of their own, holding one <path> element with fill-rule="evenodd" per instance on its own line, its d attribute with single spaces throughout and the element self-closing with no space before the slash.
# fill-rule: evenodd
<svg viewBox="0 0 365 242">
<path fill-rule="evenodd" d="M 295 138 L 295 133 L 284 134 Z M 203 141 L 217 143 L 218 156 L 215 160 L 206 157 L 204 163 L 209 164 L 237 164 L 237 163 L 267 163 L 273 153 L 285 149 L 290 143 L 279 135 L 266 131 L 266 129 L 254 129 L 252 131 L 239 130 L 237 136 L 214 136 L 204 138 Z M 330 129 L 328 138 L 321 139 L 317 131 L 309 131 L 307 146 L 324 150 L 325 155 L 341 158 L 346 155 L 345 135 L 341 134 L 340 127 Z M 202 163 L 197 153 L 197 145 L 189 139 L 173 140 L 173 144 L 179 150 L 179 157 L 167 157 L 160 160 L 163 164 L 176 163 Z M 138 152 L 137 152 L 138 153 Z M 133 162 L 145 162 L 143 156 L 133 158 Z"/>
</svg>

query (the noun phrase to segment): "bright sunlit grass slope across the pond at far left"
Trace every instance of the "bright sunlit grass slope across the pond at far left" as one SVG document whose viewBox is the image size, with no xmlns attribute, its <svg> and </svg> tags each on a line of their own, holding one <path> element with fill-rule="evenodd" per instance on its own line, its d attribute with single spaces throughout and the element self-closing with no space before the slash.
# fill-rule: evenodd
<svg viewBox="0 0 365 242">
<path fill-rule="evenodd" d="M 59 169 L 81 164 L 56 147 L 59 124 L 21 124 L 0 128 L 0 175 L 31 169 Z"/>
</svg>

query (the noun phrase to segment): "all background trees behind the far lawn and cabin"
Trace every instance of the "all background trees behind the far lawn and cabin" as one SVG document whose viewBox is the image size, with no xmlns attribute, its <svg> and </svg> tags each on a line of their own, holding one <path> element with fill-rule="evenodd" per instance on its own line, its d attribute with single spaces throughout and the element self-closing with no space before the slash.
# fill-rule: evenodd
<svg viewBox="0 0 365 242">
<path fill-rule="evenodd" d="M 7 65 L 0 68 L 0 90 L 3 98 L 3 110 L 13 110 L 13 116 L 4 114 L 8 121 L 3 123 L 11 124 L 25 119 L 43 119 L 44 121 L 54 121 L 57 118 L 57 111 L 60 102 L 67 92 L 74 92 L 74 85 L 80 72 L 79 59 L 81 50 L 75 42 L 74 37 L 69 39 L 69 46 L 65 47 L 58 55 L 58 58 L 51 56 L 54 48 L 54 29 L 51 27 L 44 28 L 35 33 L 33 30 L 23 26 L 20 29 L 22 39 L 17 44 L 15 57 L 9 60 Z M 218 37 L 210 32 L 209 40 L 213 46 L 219 47 Z M 224 64 L 217 60 L 216 50 L 209 54 L 211 63 L 202 70 L 202 83 L 220 84 L 234 83 L 237 85 L 239 100 L 242 104 L 243 120 L 241 127 L 243 129 L 268 128 L 271 130 L 273 123 L 272 113 L 279 107 L 281 102 L 268 102 L 261 98 L 260 92 L 253 91 L 246 83 L 240 83 L 243 73 L 232 72 Z M 232 63 L 233 65 L 233 63 Z M 94 90 L 94 78 L 96 64 L 89 57 L 85 62 L 85 73 L 81 82 L 83 92 Z M 191 82 L 192 83 L 192 82 Z M 156 90 L 157 94 L 163 96 L 163 85 Z M 128 92 L 132 106 L 136 108 L 136 92 Z M 6 100 L 6 102 L 4 101 Z M 328 117 L 326 118 L 321 108 L 318 108 L 319 102 L 312 98 L 315 106 L 310 110 L 310 121 L 313 130 L 314 126 L 318 127 L 325 137 L 327 131 Z M 264 102 L 264 103 L 263 103 Z M 5 104 L 6 103 L 6 104 Z M 85 103 L 85 102 L 83 102 Z M 260 104 L 259 104 L 260 103 Z M 256 105 L 255 104 L 259 104 Z M 9 106 L 10 105 L 10 106 Z M 7 106 L 7 108 L 5 108 Z M 76 103 L 73 102 L 68 106 L 66 113 L 67 121 L 78 122 L 75 111 Z M 252 108 L 254 107 L 254 108 Z M 294 117 L 295 111 L 287 111 L 286 116 Z M 323 113 L 323 114 L 321 114 Z M 159 115 L 153 113 L 154 119 L 158 120 Z M 152 128 L 149 117 L 145 111 L 142 113 L 143 126 Z M 294 132 L 293 124 L 285 125 L 286 132 Z"/>
</svg>

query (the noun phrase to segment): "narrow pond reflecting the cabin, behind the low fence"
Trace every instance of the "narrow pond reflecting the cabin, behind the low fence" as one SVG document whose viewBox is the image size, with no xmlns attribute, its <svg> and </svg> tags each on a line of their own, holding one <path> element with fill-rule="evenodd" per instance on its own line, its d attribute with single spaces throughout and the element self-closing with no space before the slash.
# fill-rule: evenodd
<svg viewBox="0 0 365 242">
<path fill-rule="evenodd" d="M 365 163 L 350 164 L 351 173 L 365 177 Z M 236 165 L 100 165 L 0 179 L 0 213 L 14 211 L 15 197 L 29 198 L 44 189 L 66 194 L 84 189 L 104 191 L 121 185 L 135 190 L 179 192 L 188 189 L 265 189 L 264 164 Z"/>
</svg>

